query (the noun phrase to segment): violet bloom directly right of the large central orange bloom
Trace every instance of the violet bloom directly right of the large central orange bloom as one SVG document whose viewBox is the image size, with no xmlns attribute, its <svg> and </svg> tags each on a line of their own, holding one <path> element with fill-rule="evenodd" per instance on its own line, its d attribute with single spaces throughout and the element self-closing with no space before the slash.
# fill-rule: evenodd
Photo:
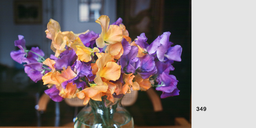
<svg viewBox="0 0 256 128">
<path fill-rule="evenodd" d="M 135 70 L 140 67 L 141 62 L 137 57 L 138 47 L 131 46 L 129 54 L 120 57 L 121 72 L 125 69 L 127 73 L 135 73 Z M 126 67 L 126 68 L 125 68 Z"/>
</svg>

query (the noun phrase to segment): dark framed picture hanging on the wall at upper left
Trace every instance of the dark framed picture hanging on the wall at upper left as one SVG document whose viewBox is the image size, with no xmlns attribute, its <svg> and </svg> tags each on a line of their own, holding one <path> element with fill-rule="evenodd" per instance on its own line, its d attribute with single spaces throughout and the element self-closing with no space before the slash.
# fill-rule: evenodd
<svg viewBox="0 0 256 128">
<path fill-rule="evenodd" d="M 15 24 L 42 24 L 42 0 L 15 0 Z"/>
</svg>

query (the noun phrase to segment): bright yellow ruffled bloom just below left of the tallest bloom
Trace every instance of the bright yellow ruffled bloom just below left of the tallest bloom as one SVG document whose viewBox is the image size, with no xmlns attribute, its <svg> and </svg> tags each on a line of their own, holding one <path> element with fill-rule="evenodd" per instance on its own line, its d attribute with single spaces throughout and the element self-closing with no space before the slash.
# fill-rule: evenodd
<svg viewBox="0 0 256 128">
<path fill-rule="evenodd" d="M 84 46 L 79 37 L 76 37 L 75 41 L 71 43 L 70 47 L 72 47 L 78 57 L 78 60 L 89 62 L 91 61 L 91 55 L 94 52 L 100 52 L 97 47 L 93 49 Z"/>
</svg>

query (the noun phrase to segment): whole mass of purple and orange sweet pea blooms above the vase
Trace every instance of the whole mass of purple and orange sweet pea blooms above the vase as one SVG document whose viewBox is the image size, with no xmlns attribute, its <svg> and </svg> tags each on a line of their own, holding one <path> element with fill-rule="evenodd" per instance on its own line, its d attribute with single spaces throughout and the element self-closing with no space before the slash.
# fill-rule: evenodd
<svg viewBox="0 0 256 128">
<path fill-rule="evenodd" d="M 49 88 L 45 93 L 56 102 L 78 97 L 87 104 L 104 96 L 114 103 L 131 88 L 156 87 L 162 91 L 161 98 L 179 95 L 178 81 L 169 73 L 174 70 L 172 63 L 181 61 L 182 47 L 171 46 L 171 33 L 164 32 L 148 44 L 145 33 L 132 41 L 122 18 L 109 22 L 102 15 L 96 20 L 102 28 L 100 34 L 90 30 L 75 34 L 62 32 L 59 23 L 50 19 L 45 32 L 55 55 L 45 59 L 39 47 L 26 49 L 24 36 L 18 35 L 14 45 L 20 49 L 12 51 L 11 57 L 26 63 L 27 75 L 34 82 L 43 80 Z"/>
</svg>

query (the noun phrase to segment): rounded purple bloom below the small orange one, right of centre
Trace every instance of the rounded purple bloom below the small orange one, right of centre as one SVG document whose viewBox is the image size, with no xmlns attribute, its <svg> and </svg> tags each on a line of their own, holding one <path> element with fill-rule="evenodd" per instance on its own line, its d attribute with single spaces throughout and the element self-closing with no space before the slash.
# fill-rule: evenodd
<svg viewBox="0 0 256 128">
<path fill-rule="evenodd" d="M 142 79 L 147 79 L 150 75 L 154 75 L 157 72 L 154 56 L 146 54 L 140 57 L 140 61 L 141 66 L 138 73 L 141 75 Z"/>
</svg>

